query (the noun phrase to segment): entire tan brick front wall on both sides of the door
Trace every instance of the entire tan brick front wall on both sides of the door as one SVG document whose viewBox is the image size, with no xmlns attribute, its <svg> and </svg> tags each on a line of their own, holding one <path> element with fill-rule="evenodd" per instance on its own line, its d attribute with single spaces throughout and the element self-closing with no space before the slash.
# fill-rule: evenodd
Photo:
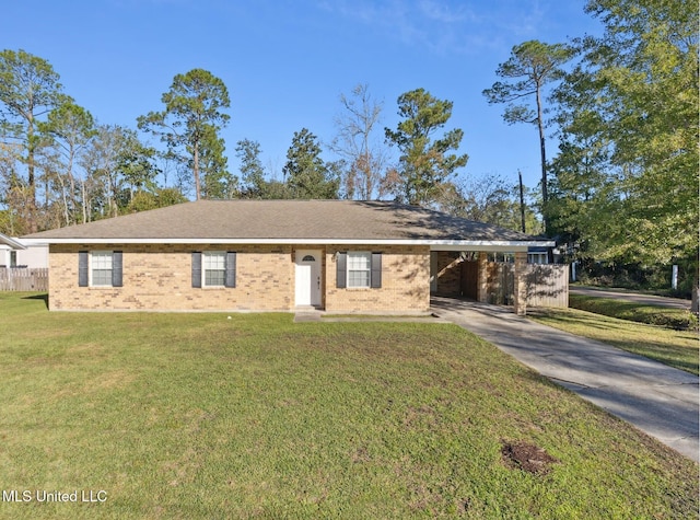
<svg viewBox="0 0 700 520">
<path fill-rule="evenodd" d="M 50 246 L 51 310 L 291 311 L 294 251 L 322 250 L 322 304 L 330 312 L 425 312 L 430 308 L 428 246 L 352 246 L 382 252 L 382 288 L 337 289 L 337 251 L 347 245 L 54 244 Z M 124 287 L 78 287 L 79 251 L 121 251 Z M 235 251 L 235 288 L 192 288 L 194 251 Z"/>
</svg>

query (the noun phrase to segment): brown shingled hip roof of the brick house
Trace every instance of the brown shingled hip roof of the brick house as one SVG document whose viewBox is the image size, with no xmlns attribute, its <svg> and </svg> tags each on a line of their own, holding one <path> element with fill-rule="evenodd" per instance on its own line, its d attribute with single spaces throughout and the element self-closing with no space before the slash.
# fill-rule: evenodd
<svg viewBox="0 0 700 520">
<path fill-rule="evenodd" d="M 23 239 L 47 243 L 553 245 L 430 209 L 355 200 L 200 200 Z"/>
</svg>

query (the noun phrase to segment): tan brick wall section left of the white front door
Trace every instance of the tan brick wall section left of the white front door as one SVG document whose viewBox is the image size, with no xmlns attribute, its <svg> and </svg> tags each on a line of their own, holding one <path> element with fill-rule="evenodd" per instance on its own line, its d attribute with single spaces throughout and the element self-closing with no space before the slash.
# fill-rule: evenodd
<svg viewBox="0 0 700 520">
<path fill-rule="evenodd" d="M 122 251 L 124 287 L 78 287 L 79 251 Z M 192 288 L 192 251 L 235 251 L 235 288 Z M 294 263 L 288 245 L 63 245 L 49 251 L 51 310 L 256 310 L 294 304 Z"/>
</svg>

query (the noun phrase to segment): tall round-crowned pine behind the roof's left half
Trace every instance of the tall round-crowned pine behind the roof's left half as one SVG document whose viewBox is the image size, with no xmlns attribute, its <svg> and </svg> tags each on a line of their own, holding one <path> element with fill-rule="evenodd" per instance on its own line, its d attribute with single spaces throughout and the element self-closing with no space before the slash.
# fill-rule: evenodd
<svg viewBox="0 0 700 520">
<path fill-rule="evenodd" d="M 202 197 L 202 173 L 212 178 L 209 187 L 226 174 L 224 142 L 219 138 L 219 131 L 230 119 L 221 112 L 230 106 L 229 91 L 223 81 L 211 72 L 192 69 L 186 74 L 175 76 L 170 91 L 161 101 L 165 109 L 140 116 L 138 126 L 160 136 L 168 151 L 191 169 L 199 200 Z"/>
</svg>

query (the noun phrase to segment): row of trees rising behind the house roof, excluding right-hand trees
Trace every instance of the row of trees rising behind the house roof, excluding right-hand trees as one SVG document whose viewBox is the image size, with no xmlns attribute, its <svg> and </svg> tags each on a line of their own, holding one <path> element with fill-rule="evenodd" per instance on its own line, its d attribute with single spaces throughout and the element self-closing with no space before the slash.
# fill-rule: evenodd
<svg viewBox="0 0 700 520">
<path fill-rule="evenodd" d="M 501 177 L 470 183 L 457 173 L 463 130 L 439 136 L 453 103 L 423 89 L 398 99 L 404 117 L 381 128 L 383 103 L 359 84 L 340 95 L 337 135 L 322 158 L 319 138 L 295 131 L 281 172 L 260 160 L 258 141 L 235 146 L 232 172 L 220 137 L 230 116 L 224 82 L 194 69 L 173 79 L 162 109 L 138 117 L 136 129 L 104 125 L 63 92 L 58 73 L 24 50 L 0 53 L 0 232 L 22 234 L 90 222 L 195 199 L 350 198 L 396 199 L 434 206 L 513 227 L 512 186 Z M 382 132 L 382 134 L 381 134 Z M 144 141 L 152 136 L 159 148 Z M 389 149 L 400 157 L 390 163 Z M 483 195 L 486 188 L 492 188 Z M 456 204 L 459 200 L 460 204 Z M 530 231 L 537 231 L 528 209 Z"/>
</svg>

